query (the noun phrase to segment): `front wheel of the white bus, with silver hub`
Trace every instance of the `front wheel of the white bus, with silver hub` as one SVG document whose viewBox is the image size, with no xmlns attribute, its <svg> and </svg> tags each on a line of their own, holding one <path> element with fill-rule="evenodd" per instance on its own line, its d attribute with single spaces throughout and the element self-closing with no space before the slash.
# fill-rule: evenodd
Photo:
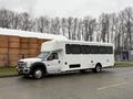
<svg viewBox="0 0 133 99">
<path fill-rule="evenodd" d="M 33 75 L 33 78 L 41 79 L 44 75 L 44 72 L 41 68 L 35 68 L 32 75 Z"/>
</svg>

